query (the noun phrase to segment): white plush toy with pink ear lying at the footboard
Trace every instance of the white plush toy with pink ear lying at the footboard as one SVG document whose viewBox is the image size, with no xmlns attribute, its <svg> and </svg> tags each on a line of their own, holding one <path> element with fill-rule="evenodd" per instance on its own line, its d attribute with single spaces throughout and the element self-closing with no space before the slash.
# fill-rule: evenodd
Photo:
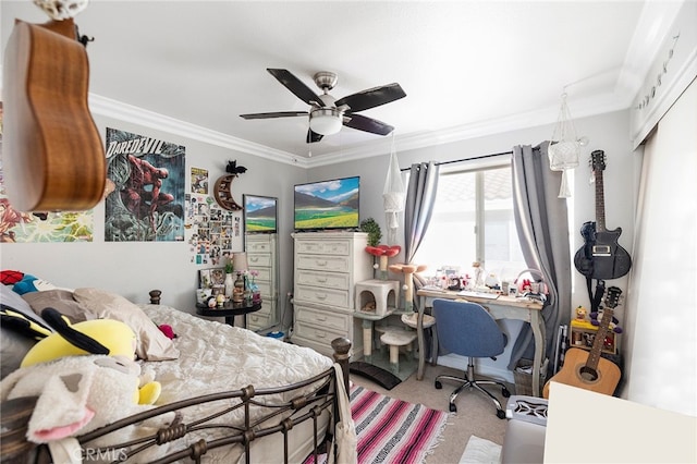
<svg viewBox="0 0 697 464">
<path fill-rule="evenodd" d="M 155 407 L 133 401 L 138 374 L 138 364 L 122 356 L 65 356 L 11 373 L 0 382 L 0 400 L 38 396 L 28 422 L 27 439 L 49 443 L 52 454 L 70 448 L 69 456 L 80 456 L 73 437 Z M 118 437 L 111 434 L 109 440 L 125 441 L 151 435 L 176 417 L 175 413 L 157 416 L 137 426 L 119 429 Z M 101 440 L 94 442 L 95 445 L 105 443 Z M 166 449 L 152 453 L 159 454 Z M 156 457 L 138 456 L 145 460 L 143 462 Z M 53 457 L 56 462 L 61 461 Z"/>
</svg>

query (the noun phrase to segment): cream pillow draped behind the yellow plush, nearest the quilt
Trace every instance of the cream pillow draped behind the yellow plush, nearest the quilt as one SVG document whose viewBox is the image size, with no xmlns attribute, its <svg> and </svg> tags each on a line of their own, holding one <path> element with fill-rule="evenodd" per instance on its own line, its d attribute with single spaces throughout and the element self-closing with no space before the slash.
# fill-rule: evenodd
<svg viewBox="0 0 697 464">
<path fill-rule="evenodd" d="M 135 353 L 140 359 L 176 359 L 179 350 L 152 322 L 143 309 L 115 293 L 99 289 L 75 289 L 73 298 L 96 317 L 127 323 L 138 341 Z"/>
</svg>

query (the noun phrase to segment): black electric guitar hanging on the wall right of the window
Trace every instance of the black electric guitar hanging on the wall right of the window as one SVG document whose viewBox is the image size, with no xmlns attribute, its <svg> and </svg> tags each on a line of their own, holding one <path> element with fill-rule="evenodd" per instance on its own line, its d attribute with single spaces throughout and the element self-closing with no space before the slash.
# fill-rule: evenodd
<svg viewBox="0 0 697 464">
<path fill-rule="evenodd" d="M 611 231 L 606 229 L 602 181 L 602 171 L 606 169 L 604 151 L 595 150 L 590 157 L 596 178 L 596 221 L 586 222 L 580 229 L 585 243 L 574 256 L 574 266 L 578 272 L 590 279 L 617 279 L 629 271 L 632 258 L 627 251 L 617 244 L 622 228 Z"/>
</svg>

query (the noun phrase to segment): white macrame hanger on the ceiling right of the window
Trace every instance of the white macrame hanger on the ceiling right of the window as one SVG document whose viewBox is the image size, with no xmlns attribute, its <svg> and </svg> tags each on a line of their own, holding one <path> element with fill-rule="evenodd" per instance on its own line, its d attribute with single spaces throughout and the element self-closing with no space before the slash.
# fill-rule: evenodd
<svg viewBox="0 0 697 464">
<path fill-rule="evenodd" d="M 549 168 L 552 171 L 562 171 L 562 184 L 559 188 L 559 198 L 570 198 L 568 171 L 578 166 L 578 155 L 580 147 L 588 144 L 586 137 L 576 137 L 576 129 L 571 119 L 568 106 L 566 106 L 566 94 L 562 94 L 562 106 L 552 138 L 549 144 Z"/>
</svg>

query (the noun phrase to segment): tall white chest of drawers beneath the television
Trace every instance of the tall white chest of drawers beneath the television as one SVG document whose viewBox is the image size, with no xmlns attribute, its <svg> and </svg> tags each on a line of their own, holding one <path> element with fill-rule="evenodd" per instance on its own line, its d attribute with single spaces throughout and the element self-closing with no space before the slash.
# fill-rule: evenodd
<svg viewBox="0 0 697 464">
<path fill-rule="evenodd" d="M 353 357 L 363 356 L 360 319 L 354 319 L 354 285 L 372 278 L 372 257 L 363 232 L 293 234 L 294 290 L 291 341 L 331 356 L 331 341 L 345 337 Z"/>
</svg>

